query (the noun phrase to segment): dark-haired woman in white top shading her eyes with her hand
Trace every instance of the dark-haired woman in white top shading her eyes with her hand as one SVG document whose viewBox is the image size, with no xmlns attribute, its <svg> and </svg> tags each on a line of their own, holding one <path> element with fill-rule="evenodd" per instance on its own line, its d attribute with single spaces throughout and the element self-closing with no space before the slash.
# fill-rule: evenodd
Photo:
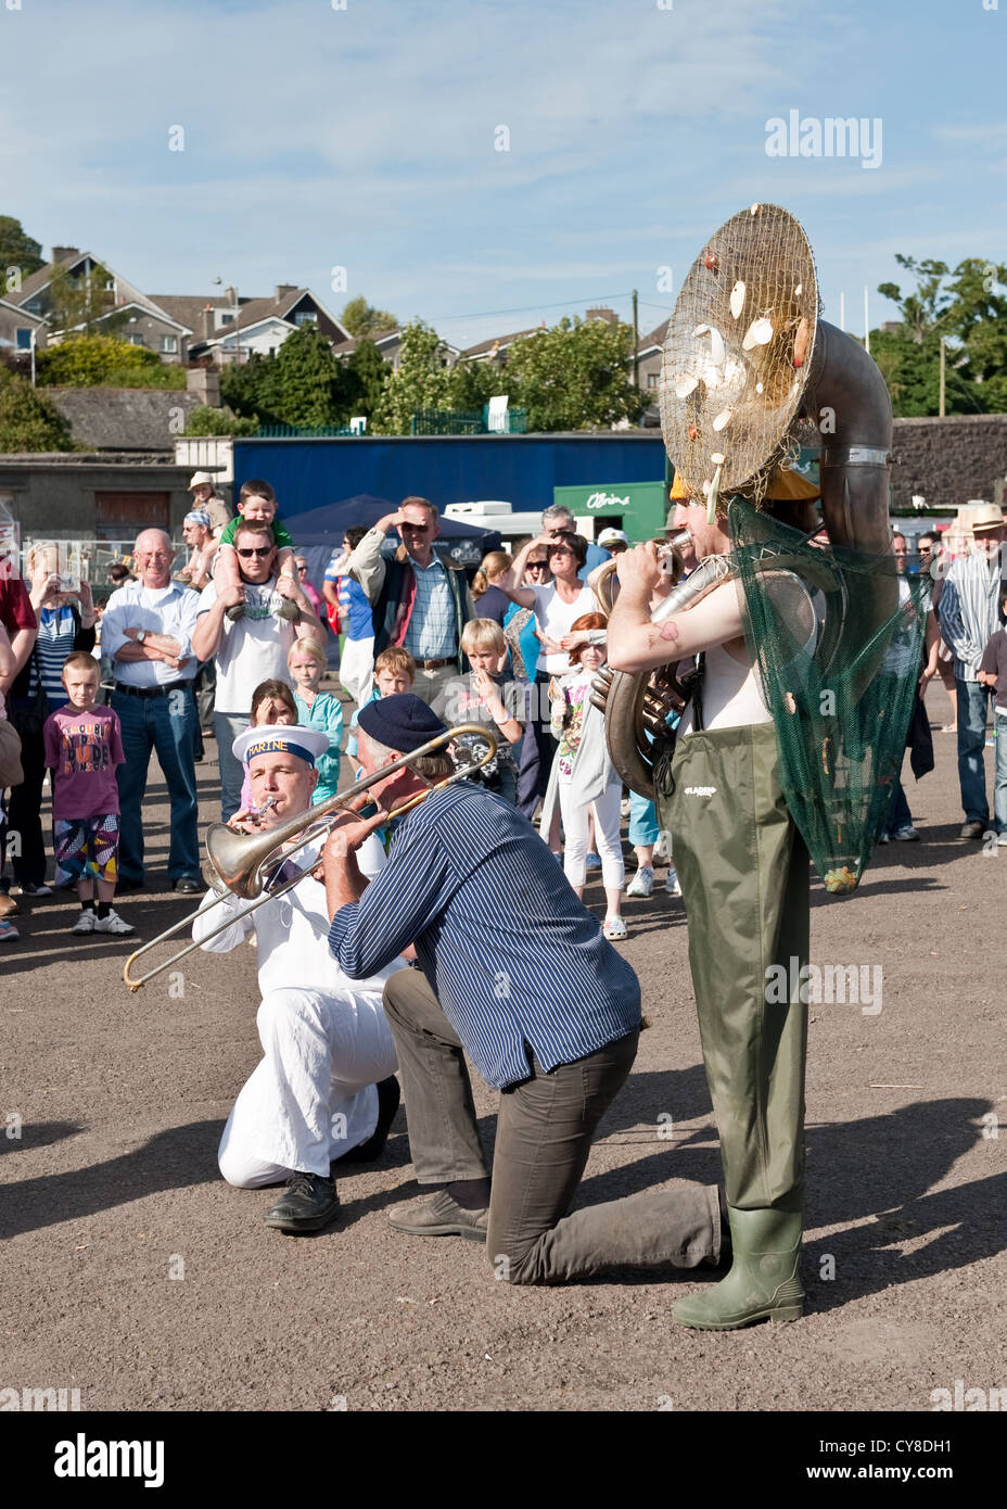
<svg viewBox="0 0 1007 1509">
<path fill-rule="evenodd" d="M 552 572 L 552 581 L 541 585 L 522 585 L 529 557 L 541 560 L 543 555 Z M 519 551 L 510 572 L 499 578 L 499 585 L 508 598 L 522 608 L 531 608 L 538 625 L 537 634 L 541 647 L 535 662 L 532 723 L 538 748 L 535 800 L 546 795 L 549 771 L 552 770 L 558 748 L 558 742 L 549 727 L 552 711 L 549 703 L 549 682 L 553 676 L 562 676 L 568 670 L 567 652 L 561 641 L 570 632 L 570 625 L 574 619 L 597 608 L 594 593 L 577 576 L 586 555 L 588 542 L 580 534 L 573 534 L 570 530 L 561 530 L 556 534 L 540 534 Z M 528 670 L 531 673 L 531 665 Z M 556 812 L 553 819 L 549 847 L 553 854 L 559 856 L 559 812 Z"/>
</svg>

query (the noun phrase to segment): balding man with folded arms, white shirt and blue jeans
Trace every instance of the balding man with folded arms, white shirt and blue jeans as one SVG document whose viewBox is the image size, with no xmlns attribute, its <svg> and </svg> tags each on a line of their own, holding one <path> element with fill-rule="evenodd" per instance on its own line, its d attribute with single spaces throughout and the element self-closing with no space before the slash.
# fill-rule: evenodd
<svg viewBox="0 0 1007 1509">
<path fill-rule="evenodd" d="M 173 890 L 200 890 L 196 831 L 196 738 L 199 714 L 193 647 L 200 599 L 172 581 L 175 549 L 163 530 L 143 530 L 133 558 L 139 581 L 127 581 L 109 598 L 101 620 L 101 647 L 112 658 L 112 709 L 122 724 L 125 764 L 119 785 L 119 890 L 143 884 L 143 818 L 146 773 L 157 750 L 172 803 L 167 878 Z"/>
</svg>

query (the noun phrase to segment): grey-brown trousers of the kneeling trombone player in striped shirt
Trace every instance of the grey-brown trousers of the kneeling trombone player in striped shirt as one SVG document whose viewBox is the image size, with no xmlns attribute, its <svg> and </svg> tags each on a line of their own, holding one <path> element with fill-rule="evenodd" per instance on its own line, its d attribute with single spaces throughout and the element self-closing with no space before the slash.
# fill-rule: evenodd
<svg viewBox="0 0 1007 1509">
<path fill-rule="evenodd" d="M 416 969 L 384 985 L 421 1185 L 487 1174 L 461 1040 Z M 513 1284 L 559 1284 L 624 1265 L 696 1268 L 721 1255 L 716 1186 L 686 1180 L 568 1215 L 591 1138 L 626 1082 L 639 1034 L 500 1093 L 487 1255 Z"/>
</svg>

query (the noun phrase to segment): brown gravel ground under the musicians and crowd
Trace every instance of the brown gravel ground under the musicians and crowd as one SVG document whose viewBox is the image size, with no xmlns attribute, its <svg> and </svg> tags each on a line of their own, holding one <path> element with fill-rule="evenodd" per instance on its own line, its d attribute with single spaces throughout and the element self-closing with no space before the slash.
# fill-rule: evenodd
<svg viewBox="0 0 1007 1509">
<path fill-rule="evenodd" d="M 938 768 L 909 789 L 923 842 L 879 848 L 846 902 L 814 886 L 813 960 L 880 966 L 883 996 L 876 1014 L 810 1008 L 802 1322 L 686 1331 L 669 1311 L 687 1278 L 510 1289 L 473 1243 L 393 1233 L 384 1212 L 415 1189 L 401 1111 L 380 1163 L 339 1180 L 336 1227 L 267 1231 L 274 1194 L 216 1168 L 259 1058 L 253 949 L 131 996 L 130 940 L 69 937 L 63 892 L 23 902 L 0 960 L 0 1387 L 78 1388 L 101 1411 L 929 1411 L 956 1381 L 1007 1388 L 1007 850 L 957 839 L 954 742 L 935 732 Z M 214 761 L 210 741 L 205 821 Z M 163 783 L 148 800 L 163 886 Z M 154 889 L 119 910 L 152 937 L 182 899 Z M 600 916 L 597 878 L 586 899 Z M 660 890 L 626 914 L 653 1029 L 583 1203 L 719 1169 L 683 905 Z M 491 1138 L 478 1080 L 476 1106 Z"/>
</svg>

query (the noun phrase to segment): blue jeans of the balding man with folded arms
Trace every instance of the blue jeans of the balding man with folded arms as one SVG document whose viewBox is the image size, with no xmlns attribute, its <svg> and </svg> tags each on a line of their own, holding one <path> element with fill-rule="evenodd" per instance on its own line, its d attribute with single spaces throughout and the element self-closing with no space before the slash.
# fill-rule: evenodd
<svg viewBox="0 0 1007 1509">
<path fill-rule="evenodd" d="M 196 795 L 196 732 L 199 717 L 191 682 L 164 697 L 130 697 L 112 693 L 112 709 L 122 724 L 125 765 L 119 765 L 119 874 L 143 880 L 143 818 L 146 771 L 157 750 L 172 804 L 169 880 L 199 880 L 199 803 Z"/>
</svg>

